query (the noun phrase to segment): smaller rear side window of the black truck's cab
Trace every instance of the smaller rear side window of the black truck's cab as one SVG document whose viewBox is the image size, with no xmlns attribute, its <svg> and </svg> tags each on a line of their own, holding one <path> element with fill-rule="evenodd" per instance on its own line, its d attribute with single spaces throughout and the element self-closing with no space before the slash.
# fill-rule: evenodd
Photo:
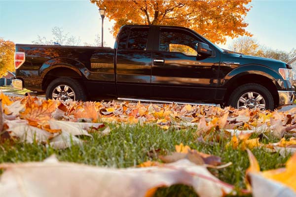
<svg viewBox="0 0 296 197">
<path fill-rule="evenodd" d="M 132 50 L 146 50 L 148 40 L 148 28 L 132 28 L 127 48 Z"/>
</svg>

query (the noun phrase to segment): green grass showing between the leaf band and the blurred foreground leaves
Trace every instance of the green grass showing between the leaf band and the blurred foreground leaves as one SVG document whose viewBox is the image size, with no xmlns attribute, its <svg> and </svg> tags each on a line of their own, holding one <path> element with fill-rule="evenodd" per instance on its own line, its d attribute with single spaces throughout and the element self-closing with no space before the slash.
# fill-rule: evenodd
<svg viewBox="0 0 296 197">
<path fill-rule="evenodd" d="M 110 167 L 130 167 L 147 160 L 157 160 L 149 157 L 149 152 L 161 149 L 161 154 L 175 151 L 175 145 L 181 142 L 203 153 L 220 156 L 222 161 L 233 164 L 223 169 L 211 169 L 219 179 L 233 184 L 236 188 L 245 188 L 245 170 L 249 166 L 246 151 L 225 148 L 230 138 L 223 138 L 217 142 L 199 142 L 195 135 L 196 128 L 187 130 L 162 130 L 157 126 L 115 126 L 111 125 L 111 133 L 107 136 L 93 134 L 93 139 L 83 138 L 83 146 L 72 146 L 65 150 L 54 150 L 38 144 L 5 141 L 0 144 L 0 163 L 42 161 L 52 154 L 56 154 L 60 161 L 83 163 Z M 217 133 L 216 133 L 217 134 Z M 217 136 L 217 135 L 216 135 Z M 215 135 L 213 136 L 215 137 Z M 254 136 L 255 137 L 255 136 Z M 260 137 L 260 136 L 259 136 Z M 271 138 L 269 141 L 278 141 Z M 266 138 L 260 139 L 268 143 Z M 283 167 L 289 157 L 282 157 L 278 153 L 269 153 L 264 149 L 252 150 L 259 161 L 261 170 Z M 175 185 L 158 189 L 156 197 L 195 197 L 191 187 Z"/>
</svg>

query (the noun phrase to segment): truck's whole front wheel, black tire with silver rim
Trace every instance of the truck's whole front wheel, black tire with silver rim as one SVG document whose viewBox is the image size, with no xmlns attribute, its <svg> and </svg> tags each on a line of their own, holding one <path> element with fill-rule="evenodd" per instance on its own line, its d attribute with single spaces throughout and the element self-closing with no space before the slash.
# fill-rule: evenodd
<svg viewBox="0 0 296 197">
<path fill-rule="evenodd" d="M 236 88 L 229 97 L 228 105 L 238 109 L 274 109 L 271 93 L 262 85 L 248 83 Z"/>
</svg>

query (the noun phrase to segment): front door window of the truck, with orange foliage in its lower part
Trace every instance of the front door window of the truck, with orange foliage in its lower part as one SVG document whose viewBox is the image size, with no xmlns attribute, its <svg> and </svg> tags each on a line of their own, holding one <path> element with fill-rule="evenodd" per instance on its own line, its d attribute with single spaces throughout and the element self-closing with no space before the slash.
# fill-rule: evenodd
<svg viewBox="0 0 296 197">
<path fill-rule="evenodd" d="M 190 33 L 182 30 L 165 30 L 160 32 L 159 51 L 180 52 L 188 56 L 197 56 L 199 42 Z"/>
</svg>

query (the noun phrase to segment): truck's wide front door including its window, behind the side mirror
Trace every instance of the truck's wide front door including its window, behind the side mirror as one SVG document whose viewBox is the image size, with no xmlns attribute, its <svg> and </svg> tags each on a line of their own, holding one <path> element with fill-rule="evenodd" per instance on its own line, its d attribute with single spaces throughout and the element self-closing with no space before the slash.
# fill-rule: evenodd
<svg viewBox="0 0 296 197">
<path fill-rule="evenodd" d="M 157 99 L 212 101 L 218 83 L 220 54 L 197 56 L 204 42 L 185 29 L 160 28 L 159 44 L 152 53 L 151 97 Z"/>
</svg>

